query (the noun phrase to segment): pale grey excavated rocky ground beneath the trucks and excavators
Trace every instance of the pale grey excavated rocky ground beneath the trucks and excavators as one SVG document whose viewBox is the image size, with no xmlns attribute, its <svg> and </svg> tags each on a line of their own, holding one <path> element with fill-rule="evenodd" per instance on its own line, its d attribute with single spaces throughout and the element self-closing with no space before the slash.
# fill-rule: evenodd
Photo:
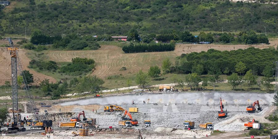
<svg viewBox="0 0 278 139">
<path fill-rule="evenodd" d="M 49 112 L 49 119 L 53 120 L 54 138 L 81 138 L 76 136 L 78 130 L 61 130 L 57 125 L 62 121 L 69 121 L 71 117 L 77 116 L 78 112 L 85 111 L 87 118 L 96 118 L 96 124 L 100 129 L 90 130 L 90 137 L 94 138 L 137 138 L 139 130 L 143 137 L 147 138 L 192 138 L 210 136 L 211 131 L 198 129 L 201 123 L 212 122 L 215 130 L 226 132 L 243 133 L 244 123 L 258 120 L 268 123 L 264 117 L 272 112 L 271 100 L 274 94 L 267 93 L 235 93 L 235 92 L 186 92 L 186 93 L 128 93 L 122 95 L 111 95 L 94 99 L 66 99 L 57 101 L 41 101 L 44 105 L 52 107 L 40 107 Z M 219 111 L 219 99 L 222 98 L 224 110 L 227 109 L 228 117 L 217 119 Z M 259 113 L 248 114 L 246 106 L 251 105 L 259 99 L 263 110 Z M 142 103 L 145 100 L 145 104 Z M 132 101 L 134 104 L 132 104 Z M 133 119 L 138 120 L 139 126 L 133 128 L 119 128 L 118 121 L 123 116 L 122 112 L 103 112 L 103 107 L 115 104 L 128 110 L 129 107 L 138 107 L 138 113 L 132 113 Z M 30 107 L 26 104 L 27 109 Z M 40 105 L 37 105 L 38 107 Z M 94 110 L 94 111 L 93 111 Z M 32 117 L 30 113 L 22 116 Z M 81 116 L 82 119 L 82 116 Z M 144 120 L 151 120 L 151 127 L 144 127 Z M 195 121 L 196 129 L 188 131 L 183 129 L 183 121 Z M 107 129 L 112 126 L 113 129 Z M 43 137 L 37 131 L 28 131 L 15 134 L 15 138 Z M 82 137 L 82 138 L 90 138 Z M 2 137 L 10 138 L 10 137 Z M 1 139 L 1 137 L 0 137 Z"/>
</svg>

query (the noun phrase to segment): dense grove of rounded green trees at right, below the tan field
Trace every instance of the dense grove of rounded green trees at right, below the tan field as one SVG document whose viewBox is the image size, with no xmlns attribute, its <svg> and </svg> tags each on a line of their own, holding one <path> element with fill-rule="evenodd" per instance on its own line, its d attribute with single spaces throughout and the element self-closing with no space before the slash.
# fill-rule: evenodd
<svg viewBox="0 0 278 139">
<path fill-rule="evenodd" d="M 173 71 L 181 74 L 199 73 L 231 74 L 237 72 L 238 66 L 243 70 L 239 74 L 252 70 L 255 75 L 265 75 L 266 67 L 272 69 L 273 61 L 277 60 L 278 51 L 275 48 L 259 49 L 250 47 L 232 51 L 218 51 L 209 49 L 207 52 L 182 54 L 173 65 Z M 240 63 L 240 64 L 239 64 Z M 273 73 L 270 75 L 274 75 Z"/>
</svg>

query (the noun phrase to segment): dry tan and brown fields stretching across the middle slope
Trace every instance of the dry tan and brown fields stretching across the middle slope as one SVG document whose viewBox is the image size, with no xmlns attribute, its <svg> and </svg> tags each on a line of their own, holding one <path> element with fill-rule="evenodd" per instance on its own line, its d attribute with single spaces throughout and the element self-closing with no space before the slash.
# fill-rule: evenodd
<svg viewBox="0 0 278 139">
<path fill-rule="evenodd" d="M 2 41 L 2 44 L 6 44 L 6 41 Z M 1 42 L 0 42 L 1 44 Z M 208 49 L 217 50 L 236 50 L 236 49 L 246 49 L 248 47 L 256 48 L 269 48 L 277 47 L 278 39 L 270 39 L 270 45 L 220 45 L 220 44 L 177 44 L 175 51 L 172 52 L 149 52 L 149 53 L 124 53 L 120 47 L 113 45 L 101 45 L 98 50 L 91 51 L 44 51 L 44 53 L 49 57 L 48 60 L 53 60 L 57 62 L 71 61 L 75 57 L 87 57 L 94 59 L 96 61 L 96 68 L 91 75 L 97 75 L 103 79 L 111 75 L 123 76 L 134 75 L 139 70 L 147 71 L 151 65 L 161 66 L 162 61 L 165 58 L 170 58 L 171 61 L 175 61 L 175 57 L 180 56 L 182 53 L 191 52 L 201 52 L 207 51 Z M 26 70 L 29 65 L 30 59 L 27 58 L 26 52 L 28 50 L 20 49 L 19 55 L 23 62 L 23 67 Z M 30 51 L 31 52 L 31 51 Z M 36 53 L 33 52 L 32 53 Z M 6 59 L 6 56 L 8 59 Z M 5 80 L 11 80 L 11 60 L 9 53 L 7 53 L 6 48 L 0 48 L 0 84 L 4 84 Z M 119 71 L 121 67 L 125 66 L 127 70 Z M 8 69 L 7 69 L 8 68 Z M 56 82 L 53 77 L 46 76 L 41 73 L 37 73 L 34 70 L 30 70 L 34 74 L 36 83 L 39 83 L 44 78 L 50 79 L 50 82 Z"/>
</svg>

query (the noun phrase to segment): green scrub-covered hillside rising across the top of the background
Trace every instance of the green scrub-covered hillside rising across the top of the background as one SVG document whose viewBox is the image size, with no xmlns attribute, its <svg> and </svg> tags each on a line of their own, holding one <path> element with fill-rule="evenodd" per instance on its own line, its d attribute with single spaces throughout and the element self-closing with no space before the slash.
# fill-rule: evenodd
<svg viewBox="0 0 278 139">
<path fill-rule="evenodd" d="M 0 8 L 1 9 L 1 8 Z M 222 0 L 13 0 L 0 11 L 0 34 L 126 35 L 167 30 L 278 32 L 278 4 Z M 72 29 L 72 30 L 71 30 Z"/>
</svg>

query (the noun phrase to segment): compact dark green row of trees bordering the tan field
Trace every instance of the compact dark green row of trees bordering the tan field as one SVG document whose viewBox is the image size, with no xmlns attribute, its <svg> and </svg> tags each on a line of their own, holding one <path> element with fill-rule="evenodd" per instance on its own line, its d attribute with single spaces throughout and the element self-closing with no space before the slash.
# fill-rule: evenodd
<svg viewBox="0 0 278 139">
<path fill-rule="evenodd" d="M 130 43 L 122 48 L 124 53 L 141 53 L 141 52 L 164 52 L 174 51 L 175 44 L 133 44 Z"/>
</svg>

